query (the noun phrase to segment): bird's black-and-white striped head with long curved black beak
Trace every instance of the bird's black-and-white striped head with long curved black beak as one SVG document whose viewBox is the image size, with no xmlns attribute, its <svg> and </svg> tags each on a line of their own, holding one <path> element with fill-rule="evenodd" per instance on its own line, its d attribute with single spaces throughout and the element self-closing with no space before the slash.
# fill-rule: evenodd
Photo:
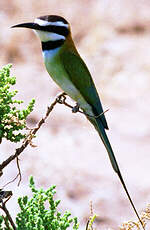
<svg viewBox="0 0 150 230">
<path fill-rule="evenodd" d="M 34 22 L 22 23 L 12 28 L 24 27 L 33 29 L 39 36 L 41 42 L 65 41 L 70 34 L 69 23 L 61 16 L 46 15 L 38 17 Z"/>
</svg>

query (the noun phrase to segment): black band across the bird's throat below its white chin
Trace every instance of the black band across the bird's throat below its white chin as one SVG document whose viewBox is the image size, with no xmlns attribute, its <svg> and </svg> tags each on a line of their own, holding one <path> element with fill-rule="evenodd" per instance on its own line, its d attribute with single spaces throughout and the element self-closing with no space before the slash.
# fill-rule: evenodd
<svg viewBox="0 0 150 230">
<path fill-rule="evenodd" d="M 64 39 L 42 42 L 42 50 L 53 50 L 60 47 L 65 42 Z"/>
</svg>

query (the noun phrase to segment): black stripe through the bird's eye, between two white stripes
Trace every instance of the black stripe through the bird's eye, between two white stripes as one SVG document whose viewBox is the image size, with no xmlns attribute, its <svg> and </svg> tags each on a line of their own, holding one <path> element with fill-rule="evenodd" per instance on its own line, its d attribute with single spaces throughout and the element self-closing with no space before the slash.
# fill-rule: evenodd
<svg viewBox="0 0 150 230">
<path fill-rule="evenodd" d="M 54 25 L 40 26 L 39 25 L 38 30 L 56 33 L 59 35 L 63 35 L 65 37 L 67 37 L 67 35 L 69 34 L 69 29 L 66 28 L 65 26 L 54 26 Z"/>
</svg>

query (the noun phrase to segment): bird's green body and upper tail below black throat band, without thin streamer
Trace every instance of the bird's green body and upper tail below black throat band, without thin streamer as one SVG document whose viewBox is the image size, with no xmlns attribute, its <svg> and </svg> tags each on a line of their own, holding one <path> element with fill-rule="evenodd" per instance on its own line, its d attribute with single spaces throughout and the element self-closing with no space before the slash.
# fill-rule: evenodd
<svg viewBox="0 0 150 230">
<path fill-rule="evenodd" d="M 53 80 L 78 103 L 79 107 L 85 112 L 87 119 L 94 125 L 107 149 L 113 169 L 116 173 L 120 173 L 105 132 L 108 126 L 96 87 L 74 43 L 72 41 L 67 43 L 66 41 L 56 53 L 45 51 L 44 61 Z"/>
</svg>

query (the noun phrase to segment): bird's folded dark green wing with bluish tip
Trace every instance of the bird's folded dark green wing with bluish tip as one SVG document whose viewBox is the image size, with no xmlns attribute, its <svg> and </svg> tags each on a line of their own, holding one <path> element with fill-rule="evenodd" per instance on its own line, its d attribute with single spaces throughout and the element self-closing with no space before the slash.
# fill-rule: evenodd
<svg viewBox="0 0 150 230">
<path fill-rule="evenodd" d="M 91 74 L 83 60 L 80 56 L 77 56 L 70 51 L 63 51 L 60 58 L 70 80 L 82 94 L 87 103 L 91 105 L 95 116 L 101 114 L 103 112 L 102 104 Z M 108 129 L 105 116 L 100 116 L 100 119 L 104 128 Z"/>
</svg>

